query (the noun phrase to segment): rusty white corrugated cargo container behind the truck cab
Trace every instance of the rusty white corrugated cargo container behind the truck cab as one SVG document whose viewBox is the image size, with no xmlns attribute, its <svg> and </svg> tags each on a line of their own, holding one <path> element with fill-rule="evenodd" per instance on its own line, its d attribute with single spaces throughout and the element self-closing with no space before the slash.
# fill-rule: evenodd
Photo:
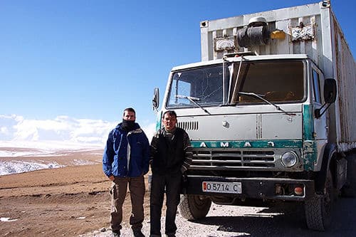
<svg viewBox="0 0 356 237">
<path fill-rule="evenodd" d="M 268 33 L 283 31 L 285 38 L 269 38 L 262 46 L 239 45 L 239 32 L 253 21 L 266 21 Z M 340 151 L 356 147 L 355 60 L 328 1 L 263 11 L 214 21 L 201 21 L 201 60 L 223 58 L 232 52 L 257 55 L 307 54 L 337 80 L 337 101 L 329 110 L 329 139 Z"/>
</svg>

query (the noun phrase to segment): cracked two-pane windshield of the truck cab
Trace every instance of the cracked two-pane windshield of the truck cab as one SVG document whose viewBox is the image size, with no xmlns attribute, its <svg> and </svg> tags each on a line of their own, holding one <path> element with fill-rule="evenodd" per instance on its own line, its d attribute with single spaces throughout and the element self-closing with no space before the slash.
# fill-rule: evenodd
<svg viewBox="0 0 356 237">
<path fill-rule="evenodd" d="M 269 102 L 300 102 L 304 98 L 301 60 L 262 60 L 210 65 L 175 72 L 167 107 L 201 107 L 266 103 L 243 93 L 256 93 Z M 239 69 L 240 68 L 240 69 Z M 225 97 L 225 98 L 224 98 Z M 187 98 L 194 98 L 188 100 Z"/>
</svg>

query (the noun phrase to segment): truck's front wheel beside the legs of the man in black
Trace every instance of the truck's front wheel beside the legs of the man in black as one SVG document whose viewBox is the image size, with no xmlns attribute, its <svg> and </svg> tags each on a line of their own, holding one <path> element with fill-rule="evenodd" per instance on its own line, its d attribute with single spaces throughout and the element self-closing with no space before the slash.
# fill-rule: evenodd
<svg viewBox="0 0 356 237">
<path fill-rule="evenodd" d="M 208 214 L 210 206 L 211 200 L 209 198 L 184 194 L 179 204 L 179 211 L 187 220 L 197 220 L 204 218 Z"/>
</svg>

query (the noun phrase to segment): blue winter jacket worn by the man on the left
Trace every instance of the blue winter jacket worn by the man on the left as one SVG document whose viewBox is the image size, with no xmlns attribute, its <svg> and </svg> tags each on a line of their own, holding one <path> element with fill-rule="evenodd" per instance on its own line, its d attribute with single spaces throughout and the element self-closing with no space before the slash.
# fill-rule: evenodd
<svg viewBox="0 0 356 237">
<path fill-rule="evenodd" d="M 140 177 L 148 172 L 150 143 L 135 123 L 135 129 L 126 132 L 121 123 L 113 129 L 103 154 L 103 171 L 110 177 Z"/>
</svg>

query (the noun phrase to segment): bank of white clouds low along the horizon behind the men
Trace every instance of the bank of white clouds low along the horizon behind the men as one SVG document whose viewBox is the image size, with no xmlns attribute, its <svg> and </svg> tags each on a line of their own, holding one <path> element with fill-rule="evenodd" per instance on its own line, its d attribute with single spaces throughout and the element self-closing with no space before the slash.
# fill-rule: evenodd
<svg viewBox="0 0 356 237">
<path fill-rule="evenodd" d="M 0 115 L 0 147 L 104 147 L 115 122 L 58 116 L 53 120 L 29 120 L 19 115 Z M 155 124 L 142 126 L 149 140 Z"/>
</svg>

